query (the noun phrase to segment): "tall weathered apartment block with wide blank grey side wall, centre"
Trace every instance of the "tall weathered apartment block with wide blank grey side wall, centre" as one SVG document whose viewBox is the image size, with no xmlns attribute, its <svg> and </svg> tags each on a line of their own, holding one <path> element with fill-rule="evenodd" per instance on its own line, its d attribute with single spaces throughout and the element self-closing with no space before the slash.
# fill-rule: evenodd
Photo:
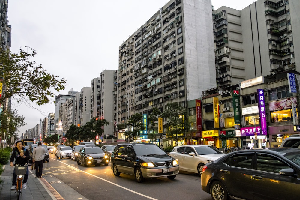
<svg viewBox="0 0 300 200">
<path fill-rule="evenodd" d="M 169 1 L 119 47 L 119 129 L 134 113 L 163 111 L 172 102 L 185 107 L 215 87 L 212 23 L 210 0 Z"/>
</svg>

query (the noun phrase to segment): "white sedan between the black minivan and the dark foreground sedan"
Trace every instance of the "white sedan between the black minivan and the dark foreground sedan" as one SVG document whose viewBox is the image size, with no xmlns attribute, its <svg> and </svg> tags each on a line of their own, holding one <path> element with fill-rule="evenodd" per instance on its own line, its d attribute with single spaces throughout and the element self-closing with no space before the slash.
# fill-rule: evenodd
<svg viewBox="0 0 300 200">
<path fill-rule="evenodd" d="M 226 154 L 211 145 L 182 145 L 173 148 L 169 153 L 179 164 L 179 171 L 194 172 L 202 175 L 202 168 Z"/>
</svg>

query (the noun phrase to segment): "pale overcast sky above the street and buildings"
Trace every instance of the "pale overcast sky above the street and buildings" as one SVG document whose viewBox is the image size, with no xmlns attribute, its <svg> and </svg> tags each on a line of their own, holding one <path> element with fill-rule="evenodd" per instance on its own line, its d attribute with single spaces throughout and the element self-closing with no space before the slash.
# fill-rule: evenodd
<svg viewBox="0 0 300 200">
<path fill-rule="evenodd" d="M 148 21 L 169 0 L 9 0 L 8 20 L 11 51 L 30 46 L 38 52 L 33 60 L 48 73 L 67 79 L 64 91 L 91 87 L 91 80 L 105 70 L 118 69 L 119 46 Z M 253 0 L 212 0 L 214 9 L 222 5 L 241 10 Z M 53 99 L 54 101 L 54 99 Z M 12 108 L 25 117 L 26 126 L 40 123 L 54 112 L 54 104 L 30 108 L 13 102 Z"/>
</svg>

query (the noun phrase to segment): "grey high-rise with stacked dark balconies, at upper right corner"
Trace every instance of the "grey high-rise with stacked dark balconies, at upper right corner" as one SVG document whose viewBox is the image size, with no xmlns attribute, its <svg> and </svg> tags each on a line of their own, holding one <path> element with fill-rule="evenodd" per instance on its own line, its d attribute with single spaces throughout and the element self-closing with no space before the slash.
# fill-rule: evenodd
<svg viewBox="0 0 300 200">
<path fill-rule="evenodd" d="M 297 0 L 258 0 L 243 10 L 214 10 L 218 85 L 299 71 L 299 9 Z"/>
</svg>

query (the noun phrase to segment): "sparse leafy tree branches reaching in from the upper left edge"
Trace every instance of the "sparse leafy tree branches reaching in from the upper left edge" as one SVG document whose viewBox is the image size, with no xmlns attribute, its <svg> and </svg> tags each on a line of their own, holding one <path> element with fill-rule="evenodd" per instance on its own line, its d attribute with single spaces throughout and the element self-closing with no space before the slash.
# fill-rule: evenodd
<svg viewBox="0 0 300 200">
<path fill-rule="evenodd" d="M 30 100 L 37 105 L 44 105 L 50 103 L 49 97 L 55 97 L 54 91 L 65 88 L 66 79 L 46 73 L 41 64 L 37 65 L 31 60 L 37 54 L 35 49 L 26 48 L 32 52 L 22 49 L 18 53 L 0 50 L 2 83 L 6 86 L 2 90 L 1 104 L 11 98 L 18 103 Z"/>
</svg>

